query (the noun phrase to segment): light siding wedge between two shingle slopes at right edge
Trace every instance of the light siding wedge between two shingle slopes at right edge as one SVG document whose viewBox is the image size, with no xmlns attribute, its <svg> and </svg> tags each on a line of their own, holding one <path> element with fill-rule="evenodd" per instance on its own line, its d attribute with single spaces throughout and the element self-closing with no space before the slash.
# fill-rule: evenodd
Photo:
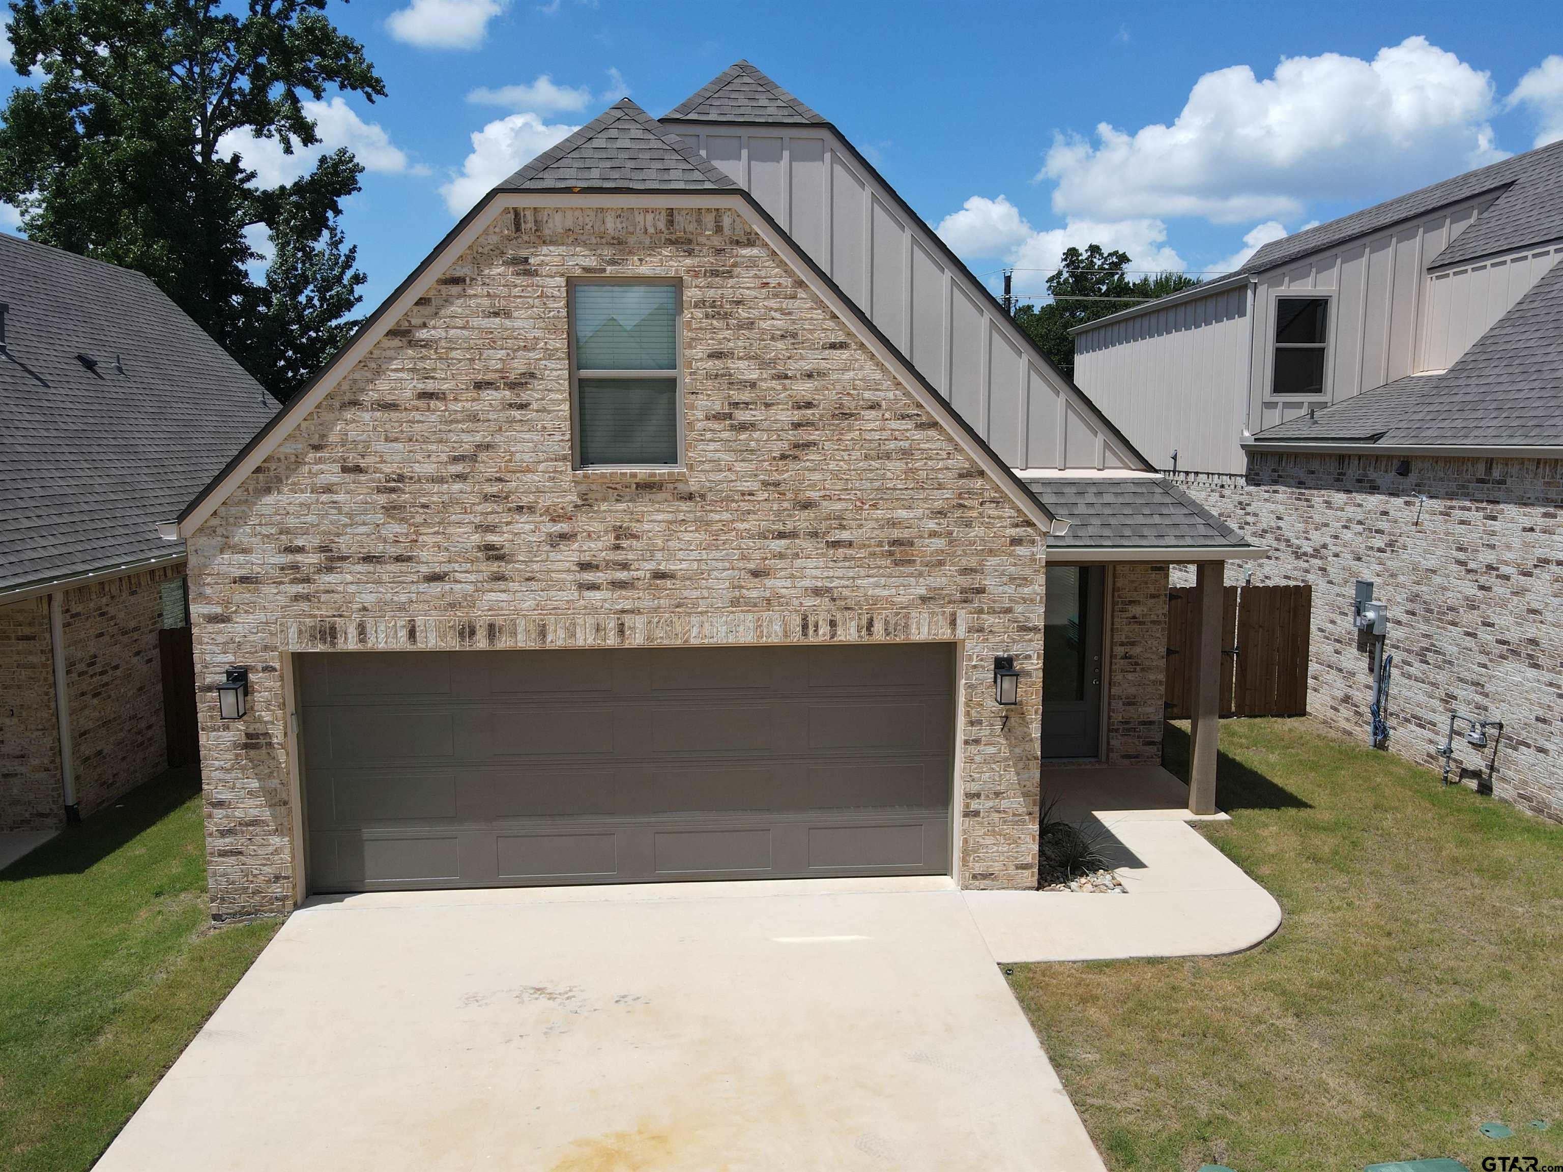
<svg viewBox="0 0 1563 1172">
<path fill-rule="evenodd" d="M 1447 370 L 1563 256 L 1563 244 L 1521 248 L 1427 273 L 1418 370 Z"/>
</svg>

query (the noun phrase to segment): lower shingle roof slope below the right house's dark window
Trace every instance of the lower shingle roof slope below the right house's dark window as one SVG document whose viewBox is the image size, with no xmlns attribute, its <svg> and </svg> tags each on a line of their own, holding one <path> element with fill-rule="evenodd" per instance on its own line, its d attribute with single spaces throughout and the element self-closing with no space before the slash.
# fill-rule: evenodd
<svg viewBox="0 0 1563 1172">
<path fill-rule="evenodd" d="M 1255 439 L 1386 448 L 1563 445 L 1563 263 L 1446 372 L 1399 378 Z"/>
</svg>

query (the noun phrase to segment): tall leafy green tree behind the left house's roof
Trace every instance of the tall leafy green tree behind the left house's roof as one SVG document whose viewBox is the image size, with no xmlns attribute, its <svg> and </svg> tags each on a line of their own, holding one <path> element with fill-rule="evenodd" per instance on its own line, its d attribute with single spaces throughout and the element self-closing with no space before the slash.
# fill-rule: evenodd
<svg viewBox="0 0 1563 1172">
<path fill-rule="evenodd" d="M 325 5 L 11 2 L 11 64 L 42 80 L 0 111 L 0 200 L 31 239 L 147 273 L 281 400 L 356 325 L 364 277 L 338 217 L 363 167 L 336 150 L 261 188 L 234 144 L 316 147 L 308 100 L 384 95 Z M 274 248 L 264 281 L 255 230 Z"/>
</svg>

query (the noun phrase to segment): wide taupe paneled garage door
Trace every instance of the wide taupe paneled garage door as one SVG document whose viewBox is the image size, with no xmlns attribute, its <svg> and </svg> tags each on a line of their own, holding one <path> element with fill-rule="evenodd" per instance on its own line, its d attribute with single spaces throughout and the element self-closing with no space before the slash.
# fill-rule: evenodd
<svg viewBox="0 0 1563 1172">
<path fill-rule="evenodd" d="M 297 667 L 311 891 L 949 869 L 950 644 Z"/>
</svg>

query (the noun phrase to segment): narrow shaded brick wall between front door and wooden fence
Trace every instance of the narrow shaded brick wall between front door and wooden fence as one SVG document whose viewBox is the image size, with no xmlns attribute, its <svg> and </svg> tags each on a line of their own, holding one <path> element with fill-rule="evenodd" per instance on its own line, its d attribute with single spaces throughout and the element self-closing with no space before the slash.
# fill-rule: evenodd
<svg viewBox="0 0 1563 1172">
<path fill-rule="evenodd" d="M 1107 761 L 1161 763 L 1166 722 L 1168 567 L 1114 566 L 1107 677 Z"/>
</svg>

